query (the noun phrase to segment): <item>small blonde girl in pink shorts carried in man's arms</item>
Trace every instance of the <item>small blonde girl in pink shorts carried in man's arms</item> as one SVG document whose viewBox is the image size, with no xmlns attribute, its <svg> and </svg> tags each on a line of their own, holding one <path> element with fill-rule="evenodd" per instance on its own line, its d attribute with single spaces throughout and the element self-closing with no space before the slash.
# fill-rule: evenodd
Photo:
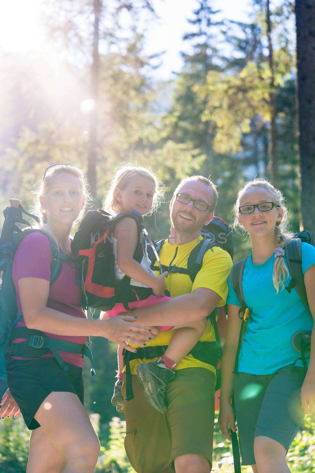
<svg viewBox="0 0 315 473">
<path fill-rule="evenodd" d="M 113 214 L 136 211 L 142 217 L 157 208 L 160 200 L 160 183 L 152 171 L 145 167 L 124 165 L 119 168 L 111 181 L 104 207 L 105 210 Z M 151 262 L 146 252 L 146 246 L 141 263 L 134 259 L 137 241 L 138 231 L 135 220 L 128 216 L 119 220 L 114 228 L 115 276 L 119 280 L 125 274 L 131 278 L 129 295 L 133 297 L 133 300 L 128 301 L 130 309 L 159 304 L 168 298 L 165 296 L 166 284 L 164 281 L 168 273 L 164 272 L 158 277 L 154 275 L 150 269 Z M 116 317 L 122 312 L 126 312 L 126 309 L 122 303 L 119 303 L 111 311 L 103 313 L 102 318 Z M 188 324 L 174 334 L 165 354 L 158 360 L 158 370 L 163 384 L 166 385 L 175 376 L 174 368 L 196 345 L 204 333 L 205 323 L 205 321 L 200 321 Z M 180 327 L 159 327 L 160 330 L 171 328 Z M 112 397 L 112 404 L 116 406 L 118 412 L 123 411 L 123 397 L 121 395 L 123 366 L 122 348 L 119 346 L 118 380 Z M 155 386 L 147 382 L 145 377 L 139 375 L 139 372 L 138 377 L 144 384 L 147 401 L 158 411 L 165 412 L 164 390 L 159 389 L 158 385 Z"/>
</svg>

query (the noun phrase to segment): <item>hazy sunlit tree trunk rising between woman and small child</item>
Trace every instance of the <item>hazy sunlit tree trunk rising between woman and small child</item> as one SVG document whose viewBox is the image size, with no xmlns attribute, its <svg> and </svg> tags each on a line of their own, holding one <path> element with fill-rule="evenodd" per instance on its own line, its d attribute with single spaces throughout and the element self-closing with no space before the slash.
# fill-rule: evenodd
<svg viewBox="0 0 315 473">
<path fill-rule="evenodd" d="M 90 185 L 90 192 L 97 199 L 96 187 L 96 163 L 97 163 L 97 131 L 98 131 L 98 86 L 100 56 L 98 52 L 99 43 L 99 22 L 102 10 L 101 0 L 94 0 L 94 41 L 93 41 L 93 63 L 91 66 L 91 97 L 94 100 L 94 109 L 90 113 L 90 149 L 87 164 L 87 180 Z"/>
</svg>

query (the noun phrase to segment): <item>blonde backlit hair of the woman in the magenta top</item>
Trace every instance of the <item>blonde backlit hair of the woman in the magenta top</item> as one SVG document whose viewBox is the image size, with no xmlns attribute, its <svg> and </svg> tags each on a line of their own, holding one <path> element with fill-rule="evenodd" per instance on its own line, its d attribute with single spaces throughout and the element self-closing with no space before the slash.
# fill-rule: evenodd
<svg viewBox="0 0 315 473">
<path fill-rule="evenodd" d="M 38 189 L 34 192 L 34 209 L 33 213 L 37 215 L 39 218 L 39 228 L 41 228 L 45 233 L 47 233 L 52 239 L 56 239 L 53 235 L 52 232 L 49 228 L 48 222 L 47 222 L 47 216 L 46 212 L 42 207 L 41 201 L 40 201 L 40 196 L 45 197 L 49 191 L 49 188 L 51 186 L 51 181 L 52 179 L 60 174 L 60 173 L 67 173 L 70 175 L 73 175 L 77 177 L 80 183 L 80 188 L 83 196 L 85 197 L 85 205 L 84 208 L 81 210 L 80 214 L 78 215 L 77 219 L 75 222 L 73 222 L 73 227 L 79 222 L 84 214 L 84 210 L 86 207 L 86 204 L 89 201 L 92 201 L 91 194 L 88 192 L 87 189 L 87 184 L 85 180 L 85 175 L 81 169 L 79 169 L 76 166 L 67 166 L 66 164 L 60 164 L 58 166 L 53 166 L 51 169 L 48 169 L 47 173 L 45 173 L 45 177 L 39 181 L 39 186 Z"/>
</svg>

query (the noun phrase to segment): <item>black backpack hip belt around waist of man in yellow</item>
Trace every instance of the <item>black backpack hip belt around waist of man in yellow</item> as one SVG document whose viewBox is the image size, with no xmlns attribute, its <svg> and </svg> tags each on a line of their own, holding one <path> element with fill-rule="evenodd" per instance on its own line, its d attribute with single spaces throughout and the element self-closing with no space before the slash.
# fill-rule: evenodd
<svg viewBox="0 0 315 473">
<path fill-rule="evenodd" d="M 153 359 L 164 355 L 168 345 L 158 345 L 156 347 L 137 348 L 136 353 L 126 349 L 123 350 L 124 365 L 126 367 L 126 401 L 134 398 L 132 389 L 132 377 L 130 371 L 130 361 L 133 359 Z M 199 361 L 216 367 L 219 360 L 219 353 L 216 342 L 197 342 L 188 355 L 192 355 Z"/>
</svg>

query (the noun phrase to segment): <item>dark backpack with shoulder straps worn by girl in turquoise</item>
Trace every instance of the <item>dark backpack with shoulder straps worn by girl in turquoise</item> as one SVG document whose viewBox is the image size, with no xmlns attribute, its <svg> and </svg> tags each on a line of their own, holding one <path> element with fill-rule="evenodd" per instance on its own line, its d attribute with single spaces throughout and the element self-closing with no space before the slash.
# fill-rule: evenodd
<svg viewBox="0 0 315 473">
<path fill-rule="evenodd" d="M 310 232 L 304 230 L 302 232 L 296 233 L 292 239 L 290 239 L 287 244 L 285 245 L 284 252 L 286 256 L 286 261 L 289 268 L 289 273 L 291 276 L 291 281 L 285 289 L 288 292 L 291 292 L 292 289 L 296 289 L 298 292 L 299 297 L 304 302 L 307 310 L 309 309 L 306 289 L 304 284 L 304 275 L 302 271 L 302 249 L 301 243 L 308 243 L 309 245 L 314 246 L 314 239 Z M 246 331 L 246 323 L 250 315 L 250 309 L 247 307 L 247 304 L 244 300 L 244 294 L 242 289 L 242 280 L 243 280 L 243 273 L 245 268 L 245 263 L 248 256 L 243 258 L 242 260 L 238 261 L 237 263 L 233 264 L 230 272 L 230 279 L 233 286 L 233 289 L 238 296 L 240 309 L 238 311 L 238 316 L 242 319 L 241 329 L 239 332 L 238 338 L 238 349 L 236 353 L 235 365 L 233 373 L 237 374 L 238 372 L 238 357 L 239 352 L 241 349 L 241 343 L 243 335 Z M 304 368 L 307 370 L 305 353 L 310 352 L 310 333 L 309 332 L 299 332 L 296 333 L 292 338 L 292 344 L 294 348 L 301 353 L 301 360 L 303 362 Z M 296 360 L 298 361 L 298 359 Z"/>
</svg>

